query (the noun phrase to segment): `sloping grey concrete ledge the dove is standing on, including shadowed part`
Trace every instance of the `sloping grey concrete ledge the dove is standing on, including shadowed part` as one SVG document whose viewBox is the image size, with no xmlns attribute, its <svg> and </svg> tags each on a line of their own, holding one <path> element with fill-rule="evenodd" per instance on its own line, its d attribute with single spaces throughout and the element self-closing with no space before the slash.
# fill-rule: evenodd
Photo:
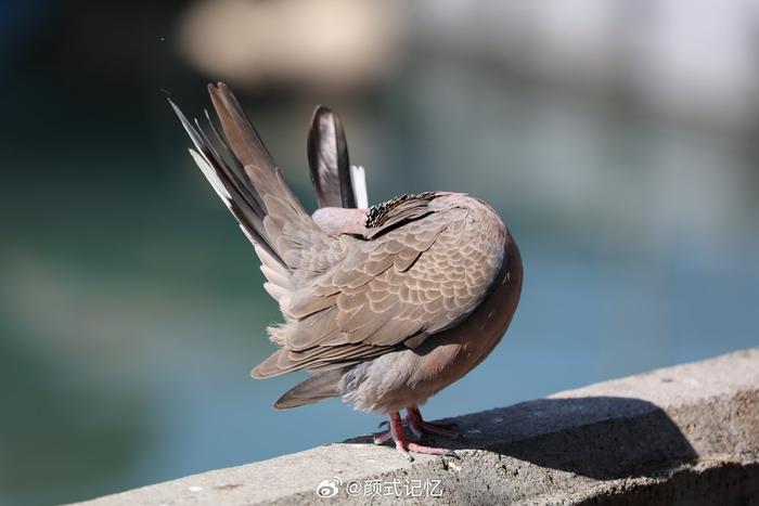
<svg viewBox="0 0 759 506">
<path fill-rule="evenodd" d="M 452 420 L 462 460 L 363 437 L 82 504 L 759 504 L 759 348 Z"/>
</svg>

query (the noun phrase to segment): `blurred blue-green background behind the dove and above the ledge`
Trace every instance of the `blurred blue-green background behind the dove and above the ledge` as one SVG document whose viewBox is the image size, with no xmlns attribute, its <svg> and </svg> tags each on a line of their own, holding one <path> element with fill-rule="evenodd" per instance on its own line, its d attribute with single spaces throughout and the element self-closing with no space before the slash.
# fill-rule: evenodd
<svg viewBox="0 0 759 506">
<path fill-rule="evenodd" d="M 254 381 L 279 320 L 166 102 L 239 93 L 311 206 L 334 107 L 370 202 L 485 198 L 509 336 L 432 418 L 759 345 L 759 1 L 0 3 L 0 504 L 83 499 L 372 431 Z"/>
</svg>

